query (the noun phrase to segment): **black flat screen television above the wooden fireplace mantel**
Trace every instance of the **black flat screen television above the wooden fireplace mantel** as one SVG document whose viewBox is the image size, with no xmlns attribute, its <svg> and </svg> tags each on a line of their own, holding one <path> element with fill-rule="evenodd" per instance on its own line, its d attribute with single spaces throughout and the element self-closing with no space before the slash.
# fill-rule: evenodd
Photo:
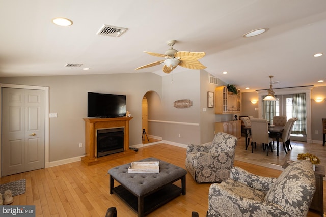
<svg viewBox="0 0 326 217">
<path fill-rule="evenodd" d="M 126 116 L 126 96 L 88 92 L 87 116 L 100 118 Z"/>
</svg>

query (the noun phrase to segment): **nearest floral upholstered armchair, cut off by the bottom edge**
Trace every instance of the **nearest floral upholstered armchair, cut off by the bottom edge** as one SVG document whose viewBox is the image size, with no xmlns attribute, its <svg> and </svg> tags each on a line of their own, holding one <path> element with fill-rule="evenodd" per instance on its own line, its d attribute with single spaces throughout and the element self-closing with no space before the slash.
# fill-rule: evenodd
<svg viewBox="0 0 326 217">
<path fill-rule="evenodd" d="M 278 178 L 234 167 L 229 179 L 210 186 L 207 216 L 307 216 L 315 189 L 310 161 L 293 162 Z"/>
</svg>

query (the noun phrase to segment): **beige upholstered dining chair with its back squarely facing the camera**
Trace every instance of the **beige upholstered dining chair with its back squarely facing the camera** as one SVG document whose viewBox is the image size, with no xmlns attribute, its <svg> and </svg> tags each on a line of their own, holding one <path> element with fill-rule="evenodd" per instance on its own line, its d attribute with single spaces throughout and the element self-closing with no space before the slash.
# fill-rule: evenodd
<svg viewBox="0 0 326 217">
<path fill-rule="evenodd" d="M 253 118 L 250 120 L 251 122 L 251 145 L 252 150 L 254 152 L 254 143 L 256 148 L 256 143 L 261 143 L 263 149 L 266 150 L 266 155 L 268 155 L 268 148 L 273 152 L 273 148 L 271 143 L 273 139 L 269 137 L 268 133 L 268 122 L 267 119 L 261 118 Z"/>
</svg>

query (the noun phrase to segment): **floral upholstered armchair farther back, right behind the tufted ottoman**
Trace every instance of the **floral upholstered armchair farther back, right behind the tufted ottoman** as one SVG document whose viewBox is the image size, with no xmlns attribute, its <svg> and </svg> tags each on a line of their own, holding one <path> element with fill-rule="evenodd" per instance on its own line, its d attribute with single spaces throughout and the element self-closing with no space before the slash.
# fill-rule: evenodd
<svg viewBox="0 0 326 217">
<path fill-rule="evenodd" d="M 187 146 L 185 166 L 197 182 L 221 182 L 230 177 L 237 138 L 219 132 L 212 143 Z"/>
</svg>

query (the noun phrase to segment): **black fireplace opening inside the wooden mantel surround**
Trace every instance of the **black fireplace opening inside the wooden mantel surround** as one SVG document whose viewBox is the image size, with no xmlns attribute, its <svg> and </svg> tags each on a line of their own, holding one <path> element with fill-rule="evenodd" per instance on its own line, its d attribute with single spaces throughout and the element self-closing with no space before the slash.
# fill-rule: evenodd
<svg viewBox="0 0 326 217">
<path fill-rule="evenodd" d="M 98 129 L 97 157 L 123 152 L 124 128 Z"/>
</svg>

